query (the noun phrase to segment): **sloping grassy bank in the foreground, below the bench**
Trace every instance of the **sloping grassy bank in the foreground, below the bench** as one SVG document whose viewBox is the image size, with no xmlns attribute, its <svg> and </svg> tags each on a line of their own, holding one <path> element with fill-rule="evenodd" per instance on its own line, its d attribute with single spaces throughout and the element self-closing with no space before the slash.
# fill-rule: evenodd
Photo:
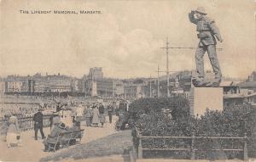
<svg viewBox="0 0 256 162">
<path fill-rule="evenodd" d="M 57 151 L 55 154 L 42 158 L 41 161 L 89 159 L 111 155 L 123 155 L 125 148 L 131 146 L 131 131 L 119 131 L 108 137 L 102 137 L 92 142 Z"/>
</svg>

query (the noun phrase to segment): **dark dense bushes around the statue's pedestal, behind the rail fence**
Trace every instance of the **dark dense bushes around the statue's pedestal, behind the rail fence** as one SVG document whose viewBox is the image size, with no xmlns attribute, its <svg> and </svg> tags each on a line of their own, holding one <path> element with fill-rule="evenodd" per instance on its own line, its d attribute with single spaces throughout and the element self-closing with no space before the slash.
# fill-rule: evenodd
<svg viewBox="0 0 256 162">
<path fill-rule="evenodd" d="M 162 109 L 172 109 L 170 118 Z M 220 111 L 207 110 L 201 117 L 189 116 L 189 102 L 183 98 L 143 98 L 131 103 L 130 115 L 143 136 L 244 137 L 247 132 L 249 156 L 256 148 L 256 110 L 239 105 Z M 241 152 L 206 151 L 212 148 L 243 148 L 243 140 L 197 139 L 198 159 L 242 158 Z M 191 140 L 162 138 L 143 139 L 143 148 L 189 148 Z M 146 156 L 154 154 L 152 151 Z M 162 154 L 158 152 L 158 154 Z M 170 156 L 189 157 L 189 152 L 171 152 Z M 162 155 L 166 155 L 163 153 Z"/>
</svg>

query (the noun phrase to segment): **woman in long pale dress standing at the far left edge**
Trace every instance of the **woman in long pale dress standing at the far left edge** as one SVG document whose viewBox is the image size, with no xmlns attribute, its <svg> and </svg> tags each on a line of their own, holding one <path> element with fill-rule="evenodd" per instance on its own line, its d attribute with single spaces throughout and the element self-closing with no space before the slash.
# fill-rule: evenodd
<svg viewBox="0 0 256 162">
<path fill-rule="evenodd" d="M 18 119 L 15 115 L 9 117 L 9 127 L 6 135 L 6 142 L 8 148 L 12 145 L 21 146 L 20 142 L 20 128 L 18 125 Z"/>
</svg>

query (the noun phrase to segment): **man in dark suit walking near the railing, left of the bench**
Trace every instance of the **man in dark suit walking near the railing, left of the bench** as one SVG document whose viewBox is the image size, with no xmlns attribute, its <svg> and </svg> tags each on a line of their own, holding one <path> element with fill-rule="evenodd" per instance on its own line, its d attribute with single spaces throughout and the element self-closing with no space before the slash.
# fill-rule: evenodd
<svg viewBox="0 0 256 162">
<path fill-rule="evenodd" d="M 44 115 L 42 114 L 42 110 L 43 109 L 38 109 L 38 113 L 36 113 L 33 116 L 33 120 L 34 120 L 34 131 L 35 131 L 35 140 L 38 140 L 38 130 L 40 130 L 42 139 L 44 139 L 44 131 L 43 131 L 43 118 Z"/>
</svg>

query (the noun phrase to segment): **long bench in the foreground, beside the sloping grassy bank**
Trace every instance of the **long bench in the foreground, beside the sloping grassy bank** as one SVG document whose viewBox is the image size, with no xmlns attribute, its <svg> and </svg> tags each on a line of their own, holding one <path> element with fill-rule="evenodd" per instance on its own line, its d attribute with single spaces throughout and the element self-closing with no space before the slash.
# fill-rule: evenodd
<svg viewBox="0 0 256 162">
<path fill-rule="evenodd" d="M 48 151 L 54 152 L 59 148 L 66 148 L 70 145 L 80 143 L 84 135 L 84 129 L 78 131 L 65 131 L 58 135 L 55 141 L 48 142 Z M 78 140 L 78 142 L 77 142 Z"/>
</svg>

